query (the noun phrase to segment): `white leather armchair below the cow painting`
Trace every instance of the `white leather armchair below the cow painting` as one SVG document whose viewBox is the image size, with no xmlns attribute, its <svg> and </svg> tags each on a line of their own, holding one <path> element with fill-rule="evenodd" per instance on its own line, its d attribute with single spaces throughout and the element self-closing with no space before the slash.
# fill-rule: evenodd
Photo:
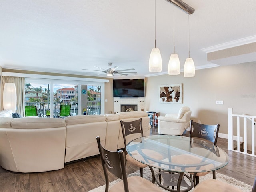
<svg viewBox="0 0 256 192">
<path fill-rule="evenodd" d="M 166 114 L 158 117 L 158 133 L 165 135 L 182 135 L 190 124 L 191 111 L 182 107 L 178 114 Z"/>
</svg>

